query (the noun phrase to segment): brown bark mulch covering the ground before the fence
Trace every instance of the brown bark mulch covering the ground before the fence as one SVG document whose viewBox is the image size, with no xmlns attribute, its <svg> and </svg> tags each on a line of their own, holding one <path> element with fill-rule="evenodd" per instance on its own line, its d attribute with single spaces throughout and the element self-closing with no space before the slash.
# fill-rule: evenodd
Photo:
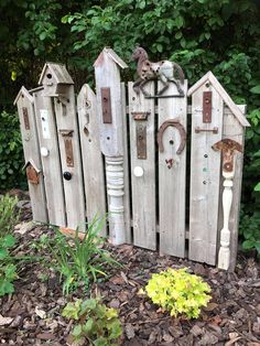
<svg viewBox="0 0 260 346">
<path fill-rule="evenodd" d="M 17 226 L 15 252 L 33 255 L 30 244 L 53 230 L 30 223 L 30 204 L 24 204 L 22 218 L 25 224 Z M 239 253 L 236 271 L 229 273 L 129 245 L 106 247 L 123 267 L 112 269 L 108 280 L 93 285 L 93 294 L 99 292 L 106 304 L 119 310 L 122 345 L 260 345 L 260 266 L 252 257 Z M 210 285 L 213 298 L 199 318 L 170 317 L 138 294 L 152 273 L 169 267 L 188 267 Z M 0 345 L 67 345 L 73 321 L 61 313 L 75 298 L 87 295 L 78 290 L 63 296 L 57 274 L 36 263 L 25 264 L 15 293 L 0 299 Z"/>
</svg>

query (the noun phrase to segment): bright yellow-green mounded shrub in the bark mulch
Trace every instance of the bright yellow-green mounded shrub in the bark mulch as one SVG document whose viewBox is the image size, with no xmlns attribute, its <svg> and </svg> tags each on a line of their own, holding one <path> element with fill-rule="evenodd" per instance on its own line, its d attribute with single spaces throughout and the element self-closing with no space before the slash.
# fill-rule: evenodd
<svg viewBox="0 0 260 346">
<path fill-rule="evenodd" d="M 176 317 L 184 314 L 188 318 L 196 318 L 202 306 L 210 300 L 209 285 L 202 278 L 189 274 L 186 268 L 152 274 L 145 291 L 154 304 L 170 312 Z"/>
</svg>

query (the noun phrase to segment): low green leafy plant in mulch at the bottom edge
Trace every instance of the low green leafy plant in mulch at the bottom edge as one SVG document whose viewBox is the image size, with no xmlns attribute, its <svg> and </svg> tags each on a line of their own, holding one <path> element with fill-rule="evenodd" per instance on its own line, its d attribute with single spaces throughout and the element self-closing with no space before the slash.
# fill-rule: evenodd
<svg viewBox="0 0 260 346">
<path fill-rule="evenodd" d="M 122 334 L 118 312 L 97 299 L 76 300 L 63 310 L 63 316 L 78 321 L 72 332 L 73 345 L 119 345 Z"/>
</svg>

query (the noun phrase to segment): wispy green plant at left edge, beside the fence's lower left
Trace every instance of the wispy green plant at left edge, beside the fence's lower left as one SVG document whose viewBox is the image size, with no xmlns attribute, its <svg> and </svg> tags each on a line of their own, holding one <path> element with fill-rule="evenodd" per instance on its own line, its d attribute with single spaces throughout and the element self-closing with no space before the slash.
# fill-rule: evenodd
<svg viewBox="0 0 260 346">
<path fill-rule="evenodd" d="M 19 213 L 15 210 L 18 197 L 11 197 L 8 194 L 0 197 L 0 235 L 6 235 L 13 230 L 19 219 Z"/>
</svg>

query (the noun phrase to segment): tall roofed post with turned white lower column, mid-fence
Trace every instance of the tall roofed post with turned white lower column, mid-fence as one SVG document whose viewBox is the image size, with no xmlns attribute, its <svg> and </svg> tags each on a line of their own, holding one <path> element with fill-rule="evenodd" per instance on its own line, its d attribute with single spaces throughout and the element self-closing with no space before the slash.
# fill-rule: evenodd
<svg viewBox="0 0 260 346">
<path fill-rule="evenodd" d="M 109 236 L 113 245 L 130 239 L 127 229 L 124 205 L 123 162 L 124 152 L 122 101 L 119 67 L 124 62 L 111 50 L 104 48 L 95 66 L 97 111 L 100 125 L 100 148 L 106 156 L 107 194 L 109 205 Z"/>
</svg>

